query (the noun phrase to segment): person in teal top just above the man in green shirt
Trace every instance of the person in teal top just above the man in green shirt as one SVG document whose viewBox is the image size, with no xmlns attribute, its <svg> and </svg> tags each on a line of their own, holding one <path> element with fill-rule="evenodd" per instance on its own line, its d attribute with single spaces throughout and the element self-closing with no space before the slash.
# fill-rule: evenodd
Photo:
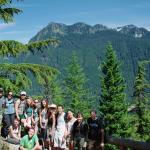
<svg viewBox="0 0 150 150">
<path fill-rule="evenodd" d="M 31 128 L 32 127 L 32 120 L 33 120 L 33 101 L 32 98 L 27 98 L 26 101 L 26 107 L 24 110 L 24 118 L 21 119 L 21 122 L 23 123 L 25 128 Z"/>
</svg>

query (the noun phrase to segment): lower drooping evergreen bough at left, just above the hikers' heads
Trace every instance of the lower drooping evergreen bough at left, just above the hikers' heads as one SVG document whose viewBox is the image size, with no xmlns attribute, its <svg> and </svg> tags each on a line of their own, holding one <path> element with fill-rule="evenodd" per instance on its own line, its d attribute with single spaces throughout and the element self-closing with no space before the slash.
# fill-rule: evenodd
<svg viewBox="0 0 150 150">
<path fill-rule="evenodd" d="M 19 92 L 20 89 L 31 87 L 32 81 L 29 74 L 32 74 L 36 81 L 45 86 L 51 80 L 57 70 L 48 66 L 38 64 L 0 64 L 0 86 L 5 91 L 13 90 Z"/>
</svg>

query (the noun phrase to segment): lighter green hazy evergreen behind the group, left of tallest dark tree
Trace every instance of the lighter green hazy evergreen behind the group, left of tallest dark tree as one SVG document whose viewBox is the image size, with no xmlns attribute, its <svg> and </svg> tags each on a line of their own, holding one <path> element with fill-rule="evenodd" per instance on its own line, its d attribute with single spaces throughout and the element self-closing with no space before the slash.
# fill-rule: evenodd
<svg viewBox="0 0 150 150">
<path fill-rule="evenodd" d="M 70 107 L 74 113 L 80 111 L 87 116 L 90 109 L 88 90 L 85 87 L 87 79 L 75 53 L 66 70 L 66 78 L 64 79 L 66 107 Z"/>
</svg>

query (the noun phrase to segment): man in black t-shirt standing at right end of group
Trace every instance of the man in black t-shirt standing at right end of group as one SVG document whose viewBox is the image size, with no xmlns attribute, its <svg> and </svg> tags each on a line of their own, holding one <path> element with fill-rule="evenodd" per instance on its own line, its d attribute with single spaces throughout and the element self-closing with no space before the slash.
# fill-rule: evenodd
<svg viewBox="0 0 150 150">
<path fill-rule="evenodd" d="M 97 117 L 96 111 L 91 111 L 88 123 L 88 150 L 104 149 L 104 127 L 102 119 Z"/>
</svg>

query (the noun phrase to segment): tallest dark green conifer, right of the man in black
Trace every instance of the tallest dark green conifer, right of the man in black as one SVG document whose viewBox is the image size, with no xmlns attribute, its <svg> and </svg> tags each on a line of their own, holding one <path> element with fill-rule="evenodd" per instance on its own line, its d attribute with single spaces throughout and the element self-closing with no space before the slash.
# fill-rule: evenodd
<svg viewBox="0 0 150 150">
<path fill-rule="evenodd" d="M 120 73 L 120 64 L 111 44 L 106 47 L 106 58 L 101 65 L 101 101 L 106 134 L 127 136 L 128 115 L 125 102 L 125 82 Z"/>
</svg>

